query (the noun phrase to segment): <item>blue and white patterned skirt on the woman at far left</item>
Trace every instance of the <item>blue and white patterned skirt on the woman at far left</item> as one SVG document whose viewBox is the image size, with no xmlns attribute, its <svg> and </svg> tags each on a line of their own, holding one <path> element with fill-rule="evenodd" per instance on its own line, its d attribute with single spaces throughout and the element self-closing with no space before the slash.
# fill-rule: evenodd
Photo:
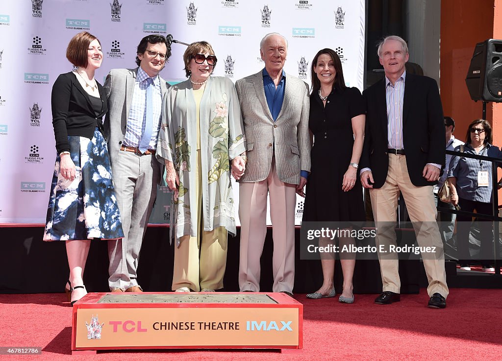
<svg viewBox="0 0 502 361">
<path fill-rule="evenodd" d="M 122 238 L 122 222 L 111 178 L 110 158 L 103 135 L 92 139 L 68 136 L 76 177 L 59 173 L 59 155 L 52 177 L 44 241 Z"/>
</svg>

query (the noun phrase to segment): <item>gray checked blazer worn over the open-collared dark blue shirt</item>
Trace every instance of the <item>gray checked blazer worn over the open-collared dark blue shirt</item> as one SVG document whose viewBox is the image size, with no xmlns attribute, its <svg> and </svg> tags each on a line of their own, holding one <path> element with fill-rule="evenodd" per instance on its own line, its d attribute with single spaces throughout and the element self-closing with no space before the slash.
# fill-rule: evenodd
<svg viewBox="0 0 502 361">
<path fill-rule="evenodd" d="M 286 73 L 284 101 L 274 122 L 263 87 L 262 71 L 235 82 L 247 141 L 247 164 L 239 182 L 267 178 L 275 155 L 277 176 L 300 184 L 300 170 L 310 171 L 308 85 Z"/>
</svg>

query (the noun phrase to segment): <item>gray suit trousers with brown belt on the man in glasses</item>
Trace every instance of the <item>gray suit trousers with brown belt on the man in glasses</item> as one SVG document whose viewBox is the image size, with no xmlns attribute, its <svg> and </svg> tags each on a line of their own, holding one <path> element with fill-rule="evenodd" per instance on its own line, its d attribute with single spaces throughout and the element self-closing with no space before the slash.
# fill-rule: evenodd
<svg viewBox="0 0 502 361">
<path fill-rule="evenodd" d="M 111 163 L 124 238 L 108 241 L 110 290 L 137 286 L 141 244 L 157 197 L 161 164 L 155 154 L 118 151 Z"/>
</svg>

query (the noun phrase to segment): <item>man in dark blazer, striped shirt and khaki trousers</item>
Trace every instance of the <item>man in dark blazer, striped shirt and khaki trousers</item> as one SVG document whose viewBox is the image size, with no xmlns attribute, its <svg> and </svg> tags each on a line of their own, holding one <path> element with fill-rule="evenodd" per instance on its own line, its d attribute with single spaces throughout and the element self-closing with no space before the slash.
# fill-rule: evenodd
<svg viewBox="0 0 502 361">
<path fill-rule="evenodd" d="M 376 223 L 383 292 L 375 303 L 400 301 L 396 246 L 396 209 L 399 195 L 406 202 L 429 281 L 431 308 L 446 307 L 448 286 L 443 244 L 436 223 L 433 186 L 445 163 L 445 128 L 439 91 L 434 79 L 407 74 L 408 46 L 397 36 L 378 48 L 385 79 L 363 92 L 366 129 L 359 166 L 361 183 L 369 188 Z"/>
</svg>

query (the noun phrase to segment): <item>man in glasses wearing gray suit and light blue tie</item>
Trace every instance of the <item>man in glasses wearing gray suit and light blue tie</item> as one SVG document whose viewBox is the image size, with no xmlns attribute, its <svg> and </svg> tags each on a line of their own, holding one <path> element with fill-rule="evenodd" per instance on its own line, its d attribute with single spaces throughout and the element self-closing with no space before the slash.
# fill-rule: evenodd
<svg viewBox="0 0 502 361">
<path fill-rule="evenodd" d="M 155 147 L 167 86 L 159 72 L 170 56 L 170 40 L 162 35 L 146 36 L 138 45 L 138 68 L 112 69 L 104 83 L 108 98 L 105 136 L 125 235 L 108 241 L 112 292 L 143 292 L 136 270 L 162 178 Z"/>
</svg>

